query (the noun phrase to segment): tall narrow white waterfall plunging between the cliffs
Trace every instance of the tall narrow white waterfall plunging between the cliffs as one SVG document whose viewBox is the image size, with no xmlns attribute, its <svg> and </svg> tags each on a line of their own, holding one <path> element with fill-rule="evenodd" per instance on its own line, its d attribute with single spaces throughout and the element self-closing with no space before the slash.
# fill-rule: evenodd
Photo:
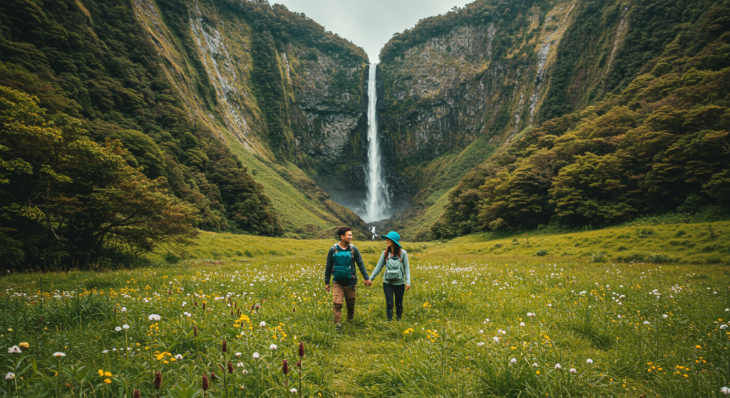
<svg viewBox="0 0 730 398">
<path fill-rule="evenodd" d="M 370 65 L 367 82 L 367 140 L 368 168 L 366 176 L 367 195 L 365 199 L 365 222 L 387 219 L 390 195 L 385 184 L 383 160 L 380 157 L 380 143 L 377 140 L 377 66 Z"/>
</svg>

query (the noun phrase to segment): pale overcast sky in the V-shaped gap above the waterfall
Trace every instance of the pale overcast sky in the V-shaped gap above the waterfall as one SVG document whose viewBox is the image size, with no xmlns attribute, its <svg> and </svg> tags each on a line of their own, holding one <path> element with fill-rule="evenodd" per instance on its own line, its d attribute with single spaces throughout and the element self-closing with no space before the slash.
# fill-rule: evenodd
<svg viewBox="0 0 730 398">
<path fill-rule="evenodd" d="M 325 30 L 363 47 L 371 63 L 395 33 L 418 20 L 464 7 L 468 0 L 269 0 L 290 11 L 304 12 Z"/>
</svg>

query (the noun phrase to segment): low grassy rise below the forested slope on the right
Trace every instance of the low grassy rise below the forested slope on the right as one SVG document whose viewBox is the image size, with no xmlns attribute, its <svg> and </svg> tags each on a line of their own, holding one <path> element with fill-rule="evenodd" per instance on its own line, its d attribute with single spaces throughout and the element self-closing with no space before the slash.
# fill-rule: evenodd
<svg viewBox="0 0 730 398">
<path fill-rule="evenodd" d="M 590 262 L 729 264 L 730 222 L 643 219 L 602 230 L 480 233 L 440 246 L 472 254 L 572 257 Z"/>
</svg>

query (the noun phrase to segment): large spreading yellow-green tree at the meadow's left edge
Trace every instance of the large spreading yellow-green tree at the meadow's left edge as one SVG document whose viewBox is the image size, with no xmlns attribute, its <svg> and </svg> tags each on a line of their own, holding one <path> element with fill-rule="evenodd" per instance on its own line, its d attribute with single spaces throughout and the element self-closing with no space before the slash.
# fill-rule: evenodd
<svg viewBox="0 0 730 398">
<path fill-rule="evenodd" d="M 85 134 L 80 120 L 0 86 L 0 241 L 15 252 L 0 261 L 83 266 L 197 235 L 197 211 L 168 195 L 164 177 L 129 166 L 120 141 Z"/>
</svg>

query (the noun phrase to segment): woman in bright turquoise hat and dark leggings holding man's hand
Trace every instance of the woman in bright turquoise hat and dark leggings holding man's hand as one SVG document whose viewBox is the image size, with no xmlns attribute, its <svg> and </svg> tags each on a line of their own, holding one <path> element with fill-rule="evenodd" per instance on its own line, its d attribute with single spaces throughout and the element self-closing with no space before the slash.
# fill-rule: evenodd
<svg viewBox="0 0 730 398">
<path fill-rule="evenodd" d="M 408 254 L 401 249 L 401 237 L 397 233 L 391 231 L 388 235 L 380 235 L 388 246 L 380 254 L 380 260 L 372 271 L 370 281 L 380 273 L 385 267 L 383 273 L 383 292 L 385 293 L 385 303 L 388 304 L 388 321 L 393 320 L 393 296 L 395 296 L 396 317 L 401 320 L 403 314 L 403 294 L 410 289 L 410 268 L 408 268 Z"/>
</svg>

